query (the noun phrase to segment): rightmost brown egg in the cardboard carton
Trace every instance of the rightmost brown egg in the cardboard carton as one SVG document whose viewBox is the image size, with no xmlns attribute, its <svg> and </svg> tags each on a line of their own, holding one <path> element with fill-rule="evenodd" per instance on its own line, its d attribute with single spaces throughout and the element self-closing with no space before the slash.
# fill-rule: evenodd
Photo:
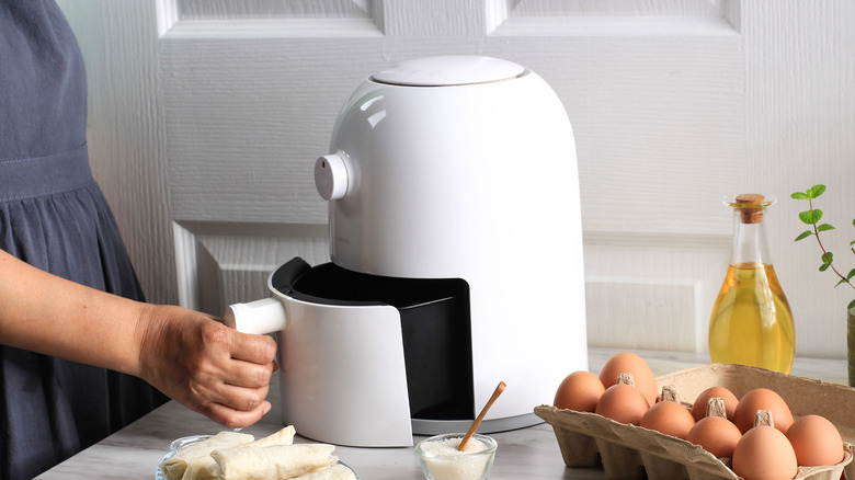
<svg viewBox="0 0 855 480">
<path fill-rule="evenodd" d="M 824 416 L 805 415 L 796 420 L 787 431 L 787 438 L 799 465 L 819 467 L 843 461 L 843 438 Z"/>
</svg>

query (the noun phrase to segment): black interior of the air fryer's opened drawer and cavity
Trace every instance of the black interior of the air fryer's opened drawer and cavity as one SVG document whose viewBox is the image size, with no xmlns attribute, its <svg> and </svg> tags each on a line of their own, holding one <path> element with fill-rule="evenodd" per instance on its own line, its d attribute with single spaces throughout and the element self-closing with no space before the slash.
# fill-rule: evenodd
<svg viewBox="0 0 855 480">
<path fill-rule="evenodd" d="M 385 277 L 333 263 L 311 267 L 295 258 L 273 273 L 271 286 L 309 304 L 396 307 L 401 317 L 411 416 L 474 419 L 469 286 L 465 281 Z"/>
</svg>

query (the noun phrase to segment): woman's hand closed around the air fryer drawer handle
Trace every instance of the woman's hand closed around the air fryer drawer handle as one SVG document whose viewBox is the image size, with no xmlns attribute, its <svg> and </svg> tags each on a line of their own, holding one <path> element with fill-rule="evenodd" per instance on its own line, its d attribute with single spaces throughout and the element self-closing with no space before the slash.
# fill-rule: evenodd
<svg viewBox="0 0 855 480">
<path fill-rule="evenodd" d="M 136 331 L 141 377 L 189 409 L 229 428 L 249 426 L 271 409 L 276 342 L 240 333 L 182 307 L 145 305 Z"/>
</svg>

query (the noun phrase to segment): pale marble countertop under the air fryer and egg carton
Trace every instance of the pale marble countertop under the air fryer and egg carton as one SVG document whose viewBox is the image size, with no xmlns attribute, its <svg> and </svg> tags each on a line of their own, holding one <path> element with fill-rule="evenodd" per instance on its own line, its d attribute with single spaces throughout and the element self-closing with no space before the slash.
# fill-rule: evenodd
<svg viewBox="0 0 855 480">
<path fill-rule="evenodd" d="M 597 373 L 615 350 L 589 348 L 590 370 Z M 705 354 L 640 352 L 653 373 L 664 375 L 709 363 Z M 793 374 L 846 384 L 845 359 L 797 358 Z M 255 437 L 282 427 L 278 387 L 271 388 L 273 410 L 259 423 L 244 428 Z M 535 405 L 532 405 L 533 408 Z M 79 453 L 38 479 L 155 478 L 155 470 L 169 452 L 170 443 L 192 434 L 216 433 L 223 427 L 170 401 L 115 434 Z M 561 460 L 551 426 L 539 424 L 526 428 L 490 434 L 499 443 L 490 478 L 502 479 L 605 479 L 601 468 L 567 468 Z M 422 437 L 417 436 L 415 443 Z M 298 439 L 299 441 L 299 439 Z M 423 479 L 414 447 L 355 448 L 337 447 L 337 455 L 363 480 Z"/>
</svg>

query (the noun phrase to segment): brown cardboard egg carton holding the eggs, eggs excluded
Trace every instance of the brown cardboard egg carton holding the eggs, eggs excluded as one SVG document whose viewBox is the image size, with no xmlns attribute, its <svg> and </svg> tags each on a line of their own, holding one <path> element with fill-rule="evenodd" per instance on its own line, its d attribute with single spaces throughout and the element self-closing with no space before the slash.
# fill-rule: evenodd
<svg viewBox="0 0 855 480">
<path fill-rule="evenodd" d="M 657 378 L 659 390 L 676 387 L 680 398 L 691 405 L 705 389 L 720 386 L 738 398 L 751 389 L 775 390 L 795 418 L 818 414 L 830 420 L 841 433 L 845 456 L 828 467 L 799 467 L 797 479 L 855 480 L 855 389 L 821 380 L 779 374 L 743 365 L 713 364 L 675 372 Z M 609 479 L 740 480 L 729 468 L 730 459 L 716 458 L 697 445 L 636 425 L 615 422 L 602 415 L 551 405 L 535 408 L 535 414 L 552 425 L 561 456 L 568 467 L 602 465 Z"/>
</svg>

